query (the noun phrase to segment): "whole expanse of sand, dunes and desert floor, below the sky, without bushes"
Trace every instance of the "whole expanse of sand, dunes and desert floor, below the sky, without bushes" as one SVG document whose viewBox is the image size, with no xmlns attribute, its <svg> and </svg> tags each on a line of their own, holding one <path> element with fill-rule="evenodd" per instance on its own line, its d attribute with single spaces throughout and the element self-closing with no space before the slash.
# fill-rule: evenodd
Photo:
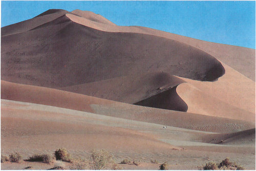
<svg viewBox="0 0 256 171">
<path fill-rule="evenodd" d="M 123 169 L 203 169 L 228 157 L 255 170 L 254 49 L 81 10 L 1 32 L 1 155 L 22 156 L 1 169 L 53 168 L 28 159 L 65 147 L 86 160 L 104 149 Z"/>
</svg>

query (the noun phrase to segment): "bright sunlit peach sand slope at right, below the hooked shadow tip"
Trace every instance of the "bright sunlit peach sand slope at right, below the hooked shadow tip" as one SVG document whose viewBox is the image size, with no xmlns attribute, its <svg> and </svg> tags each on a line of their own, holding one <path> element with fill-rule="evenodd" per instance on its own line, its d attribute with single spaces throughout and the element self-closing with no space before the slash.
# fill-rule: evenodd
<svg viewBox="0 0 256 171">
<path fill-rule="evenodd" d="M 177 88 L 188 112 L 255 121 L 255 82 L 224 65 L 226 74 L 215 82 L 184 79 Z"/>
</svg>

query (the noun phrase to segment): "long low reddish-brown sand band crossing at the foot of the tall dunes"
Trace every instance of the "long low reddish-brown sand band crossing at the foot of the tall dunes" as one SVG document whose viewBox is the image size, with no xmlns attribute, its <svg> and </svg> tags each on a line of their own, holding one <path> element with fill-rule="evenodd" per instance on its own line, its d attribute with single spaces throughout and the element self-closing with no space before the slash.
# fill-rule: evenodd
<svg viewBox="0 0 256 171">
<path fill-rule="evenodd" d="M 252 122 L 132 105 L 50 88 L 1 81 L 1 98 L 31 102 L 208 132 L 236 132 L 255 127 Z"/>
</svg>

